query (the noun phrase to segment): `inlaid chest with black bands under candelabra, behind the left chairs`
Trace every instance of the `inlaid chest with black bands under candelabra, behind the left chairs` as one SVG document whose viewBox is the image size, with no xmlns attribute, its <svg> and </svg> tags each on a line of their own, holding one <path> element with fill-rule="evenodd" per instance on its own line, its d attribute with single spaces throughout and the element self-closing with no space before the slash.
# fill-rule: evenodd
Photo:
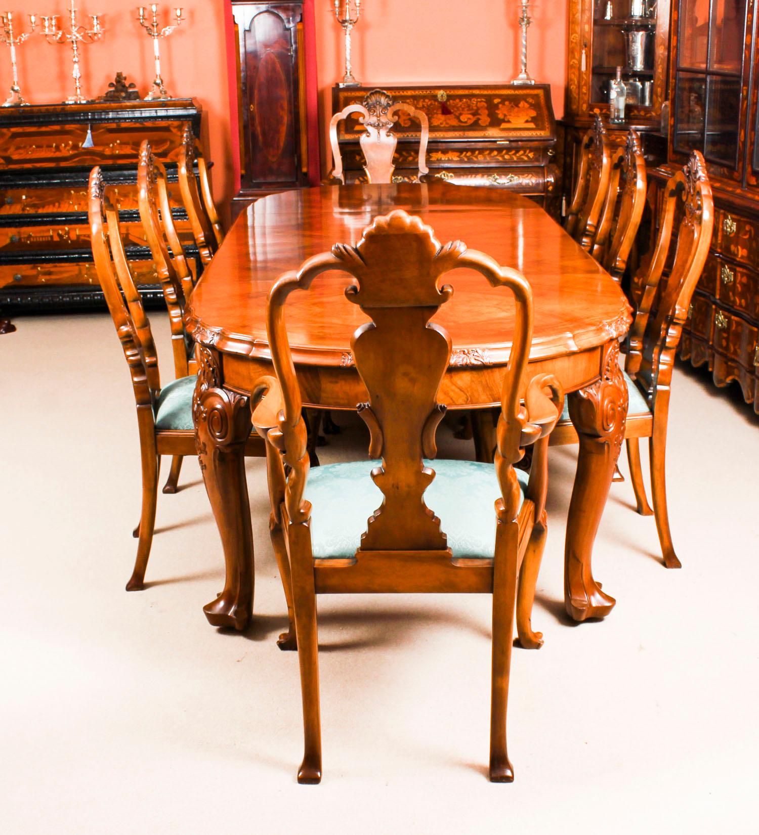
<svg viewBox="0 0 759 835">
<path fill-rule="evenodd" d="M 200 138 L 201 117 L 200 104 L 193 99 L 0 110 L 0 309 L 104 305 L 87 220 L 87 180 L 94 165 L 114 185 L 112 195 L 140 289 L 157 301 L 160 286 L 137 207 L 139 144 L 150 139 L 154 154 L 166 163 L 172 214 L 192 256 L 176 160 L 185 127 Z"/>
</svg>

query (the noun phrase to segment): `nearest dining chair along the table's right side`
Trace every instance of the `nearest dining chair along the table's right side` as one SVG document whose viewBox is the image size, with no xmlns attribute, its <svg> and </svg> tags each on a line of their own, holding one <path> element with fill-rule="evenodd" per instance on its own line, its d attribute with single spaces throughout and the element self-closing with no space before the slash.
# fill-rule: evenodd
<svg viewBox="0 0 759 835">
<path fill-rule="evenodd" d="M 706 263 L 714 224 L 711 185 L 699 151 L 691 151 L 682 170 L 670 177 L 663 197 L 656 245 L 635 278 L 635 284 L 640 281 L 645 289 L 627 337 L 624 377 L 630 405 L 625 439 L 636 509 L 643 516 L 654 514 L 664 564 L 676 569 L 681 562 L 672 544 L 665 483 L 672 368 L 691 296 Z M 676 216 L 681 221 L 673 241 Z M 669 276 L 663 277 L 670 256 L 671 270 Z M 571 411 L 570 399 L 551 435 L 551 445 L 577 443 L 577 433 L 569 419 Z M 653 511 L 645 495 L 639 438 L 649 439 Z"/>
</svg>

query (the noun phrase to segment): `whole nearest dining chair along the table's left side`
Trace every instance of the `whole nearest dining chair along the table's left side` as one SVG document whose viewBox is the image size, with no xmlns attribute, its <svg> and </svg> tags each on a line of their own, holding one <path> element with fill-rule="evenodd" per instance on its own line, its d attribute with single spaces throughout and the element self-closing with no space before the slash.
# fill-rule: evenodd
<svg viewBox="0 0 759 835">
<path fill-rule="evenodd" d="M 192 418 L 197 377 L 195 374 L 179 377 L 161 387 L 150 321 L 124 251 L 119 212 L 105 193 L 99 166 L 89 175 L 89 230 L 95 270 L 124 349 L 137 407 L 142 510 L 139 525 L 134 530 L 139 539 L 137 557 L 126 586 L 128 591 L 134 591 L 144 587 L 153 542 L 160 457 L 195 455 L 197 452 Z M 265 455 L 263 439 L 251 434 L 245 454 Z"/>
</svg>

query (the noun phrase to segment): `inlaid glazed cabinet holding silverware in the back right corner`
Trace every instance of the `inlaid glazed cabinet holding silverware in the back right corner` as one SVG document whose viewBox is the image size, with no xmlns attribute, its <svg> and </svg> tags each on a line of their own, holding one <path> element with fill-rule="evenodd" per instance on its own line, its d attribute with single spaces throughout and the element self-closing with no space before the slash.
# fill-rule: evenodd
<svg viewBox="0 0 759 835">
<path fill-rule="evenodd" d="M 708 2 L 708 0 L 707 0 Z M 622 68 L 627 129 L 659 129 L 667 93 L 670 0 L 570 0 L 564 118 L 591 124 L 609 113 L 609 85 Z"/>
</svg>

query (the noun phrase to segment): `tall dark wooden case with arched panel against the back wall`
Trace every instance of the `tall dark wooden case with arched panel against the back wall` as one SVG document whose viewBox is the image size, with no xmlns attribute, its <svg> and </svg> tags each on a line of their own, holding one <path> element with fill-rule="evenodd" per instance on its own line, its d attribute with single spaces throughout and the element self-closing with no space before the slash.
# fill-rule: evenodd
<svg viewBox="0 0 759 835">
<path fill-rule="evenodd" d="M 233 3 L 242 188 L 301 185 L 300 3 Z"/>
</svg>

